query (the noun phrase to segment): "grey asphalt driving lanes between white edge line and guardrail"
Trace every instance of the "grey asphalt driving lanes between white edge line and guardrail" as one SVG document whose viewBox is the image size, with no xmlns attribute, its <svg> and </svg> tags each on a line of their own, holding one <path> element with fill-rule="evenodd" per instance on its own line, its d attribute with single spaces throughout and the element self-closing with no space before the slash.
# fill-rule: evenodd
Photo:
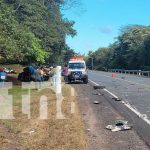
<svg viewBox="0 0 150 150">
<path fill-rule="evenodd" d="M 127 74 L 88 71 L 89 79 L 106 89 L 132 107 L 133 111 L 150 120 L 150 78 Z M 150 123 L 150 122 L 149 122 Z"/>
</svg>

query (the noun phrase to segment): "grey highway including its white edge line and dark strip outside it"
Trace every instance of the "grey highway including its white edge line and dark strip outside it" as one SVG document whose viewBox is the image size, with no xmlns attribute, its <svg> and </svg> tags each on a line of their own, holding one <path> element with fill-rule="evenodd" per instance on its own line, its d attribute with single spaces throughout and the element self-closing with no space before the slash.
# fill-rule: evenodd
<svg viewBox="0 0 150 150">
<path fill-rule="evenodd" d="M 150 78 L 102 71 L 88 71 L 88 77 L 92 85 L 105 87 L 99 90 L 105 101 L 125 117 L 150 146 Z"/>
</svg>

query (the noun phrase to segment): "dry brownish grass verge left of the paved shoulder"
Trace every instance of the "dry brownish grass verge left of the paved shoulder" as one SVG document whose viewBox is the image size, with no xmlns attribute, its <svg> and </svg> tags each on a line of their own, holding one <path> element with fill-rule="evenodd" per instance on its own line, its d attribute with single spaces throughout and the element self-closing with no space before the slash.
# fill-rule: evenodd
<svg viewBox="0 0 150 150">
<path fill-rule="evenodd" d="M 13 66 L 11 67 L 13 68 Z M 22 67 L 17 69 L 22 71 Z M 16 80 L 17 74 L 10 75 Z M 9 77 L 8 77 L 9 79 Z M 56 95 L 51 88 L 43 90 L 30 90 L 31 101 L 31 119 L 22 113 L 21 94 L 27 94 L 28 90 L 21 90 L 18 84 L 13 85 L 13 89 L 9 94 L 14 95 L 13 112 L 14 120 L 1 120 L 0 126 L 7 129 L 11 136 L 4 133 L 3 139 L 8 138 L 1 143 L 2 149 L 12 149 L 11 143 L 15 143 L 16 149 L 20 150 L 87 150 L 87 138 L 84 124 L 80 115 L 76 94 L 71 95 L 71 86 L 65 84 L 62 88 L 63 102 L 62 112 L 66 119 L 57 119 L 56 111 Z M 48 119 L 39 119 L 40 116 L 40 97 L 47 97 Z M 75 104 L 75 112 L 71 113 L 71 104 Z M 5 130 L 4 130 L 5 131 Z M 3 131 L 3 132 L 4 132 Z M 1 130 L 0 130 L 1 132 Z M 2 135 L 2 133 L 0 133 Z M 0 141 L 1 141 L 0 137 Z M 11 141 L 11 142 L 6 142 Z"/>
</svg>

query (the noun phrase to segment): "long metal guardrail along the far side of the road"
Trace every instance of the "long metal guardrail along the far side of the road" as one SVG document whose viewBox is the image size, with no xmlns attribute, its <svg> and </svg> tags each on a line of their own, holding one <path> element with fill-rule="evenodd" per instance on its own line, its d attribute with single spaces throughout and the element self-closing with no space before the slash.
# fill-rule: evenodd
<svg viewBox="0 0 150 150">
<path fill-rule="evenodd" d="M 150 71 L 142 71 L 142 70 L 108 69 L 108 72 L 125 73 L 125 74 L 133 74 L 133 75 L 150 77 Z"/>
</svg>

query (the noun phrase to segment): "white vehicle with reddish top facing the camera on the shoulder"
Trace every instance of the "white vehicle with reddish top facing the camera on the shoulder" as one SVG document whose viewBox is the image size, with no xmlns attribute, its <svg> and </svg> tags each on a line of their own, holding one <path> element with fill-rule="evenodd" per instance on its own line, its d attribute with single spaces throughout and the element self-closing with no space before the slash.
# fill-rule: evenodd
<svg viewBox="0 0 150 150">
<path fill-rule="evenodd" d="M 83 83 L 88 83 L 88 75 L 86 70 L 86 64 L 83 58 L 73 57 L 68 62 L 68 82 L 83 81 Z"/>
</svg>

